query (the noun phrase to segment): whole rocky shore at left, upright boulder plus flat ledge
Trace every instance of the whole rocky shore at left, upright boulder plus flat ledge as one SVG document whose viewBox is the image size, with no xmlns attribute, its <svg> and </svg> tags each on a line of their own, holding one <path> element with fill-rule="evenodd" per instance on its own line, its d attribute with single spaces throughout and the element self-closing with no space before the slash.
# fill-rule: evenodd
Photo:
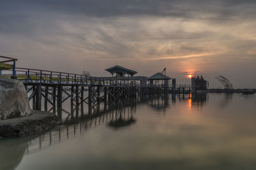
<svg viewBox="0 0 256 170">
<path fill-rule="evenodd" d="M 22 81 L 0 77 L 0 138 L 30 136 L 60 122 L 54 113 L 31 110 Z"/>
</svg>

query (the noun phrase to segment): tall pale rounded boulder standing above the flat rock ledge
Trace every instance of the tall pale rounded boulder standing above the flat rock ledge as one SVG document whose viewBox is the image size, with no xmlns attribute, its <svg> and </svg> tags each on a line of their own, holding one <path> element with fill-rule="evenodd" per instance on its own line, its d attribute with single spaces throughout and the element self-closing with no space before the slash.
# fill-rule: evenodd
<svg viewBox="0 0 256 170">
<path fill-rule="evenodd" d="M 0 120 L 31 114 L 28 95 L 19 80 L 0 77 Z"/>
</svg>

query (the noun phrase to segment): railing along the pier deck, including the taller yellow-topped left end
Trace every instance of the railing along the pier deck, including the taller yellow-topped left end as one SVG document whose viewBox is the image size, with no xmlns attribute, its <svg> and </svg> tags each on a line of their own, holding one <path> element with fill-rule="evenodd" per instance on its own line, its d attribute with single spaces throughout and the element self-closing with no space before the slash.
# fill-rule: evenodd
<svg viewBox="0 0 256 170">
<path fill-rule="evenodd" d="M 2 59 L 2 61 L 1 61 Z M 138 80 L 116 80 L 115 78 L 86 76 L 76 73 L 65 73 L 60 71 L 49 71 L 44 69 L 32 69 L 16 67 L 16 60 L 11 57 L 0 56 L 0 76 L 5 78 L 16 78 L 25 83 L 58 83 L 74 85 L 102 85 L 116 87 L 159 87 L 171 88 L 170 85 L 141 84 Z M 10 64 L 11 62 L 11 64 Z M 180 88 L 188 85 L 179 85 Z M 178 87 L 176 85 L 175 87 Z"/>
</svg>

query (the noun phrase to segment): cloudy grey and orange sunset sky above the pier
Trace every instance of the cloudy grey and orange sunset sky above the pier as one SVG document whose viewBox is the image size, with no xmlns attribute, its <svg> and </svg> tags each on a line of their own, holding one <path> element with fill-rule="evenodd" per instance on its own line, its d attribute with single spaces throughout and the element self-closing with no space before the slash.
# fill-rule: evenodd
<svg viewBox="0 0 256 170">
<path fill-rule="evenodd" d="M 18 67 L 70 73 L 120 65 L 151 76 L 166 67 L 256 88 L 256 1 L 1 0 L 0 55 Z"/>
</svg>

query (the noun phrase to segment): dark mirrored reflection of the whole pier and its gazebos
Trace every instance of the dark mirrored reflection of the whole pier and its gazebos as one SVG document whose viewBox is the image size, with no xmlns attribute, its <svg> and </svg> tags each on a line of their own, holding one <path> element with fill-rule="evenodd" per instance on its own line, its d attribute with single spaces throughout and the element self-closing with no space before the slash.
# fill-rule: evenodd
<svg viewBox="0 0 256 170">
<path fill-rule="evenodd" d="M 165 113 L 166 108 L 171 106 L 171 99 L 172 104 L 175 104 L 176 99 L 179 99 L 179 101 L 188 101 L 192 103 L 192 106 L 202 108 L 207 101 L 207 94 L 144 96 L 129 100 L 118 100 L 108 105 L 104 104 L 102 108 L 100 108 L 102 105 L 97 104 L 95 108 L 92 108 L 92 113 L 72 119 L 67 118 L 60 127 L 51 129 L 51 131 L 45 132 L 29 141 L 25 154 L 35 153 L 40 149 L 67 141 L 69 138 L 82 136 L 83 132 L 102 124 L 106 124 L 108 125 L 107 127 L 116 130 L 132 125 L 136 123 L 134 113 L 136 113 L 141 104 L 148 104 L 150 108 L 159 111 L 159 113 Z"/>
</svg>

